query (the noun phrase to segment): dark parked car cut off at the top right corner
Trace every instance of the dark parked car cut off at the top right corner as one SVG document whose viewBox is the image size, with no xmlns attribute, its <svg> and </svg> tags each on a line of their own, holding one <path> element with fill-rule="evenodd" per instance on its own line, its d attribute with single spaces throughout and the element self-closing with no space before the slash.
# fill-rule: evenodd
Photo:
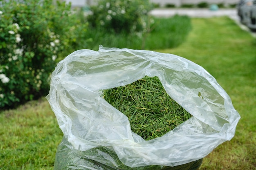
<svg viewBox="0 0 256 170">
<path fill-rule="evenodd" d="M 241 23 L 249 29 L 256 30 L 256 0 L 240 0 L 237 10 Z"/>
</svg>

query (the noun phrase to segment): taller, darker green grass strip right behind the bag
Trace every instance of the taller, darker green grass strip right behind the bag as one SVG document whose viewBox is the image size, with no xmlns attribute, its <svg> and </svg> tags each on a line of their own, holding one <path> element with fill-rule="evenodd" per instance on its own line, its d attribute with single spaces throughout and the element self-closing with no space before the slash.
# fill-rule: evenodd
<svg viewBox="0 0 256 170">
<path fill-rule="evenodd" d="M 90 28 L 85 32 L 88 39 L 87 48 L 99 50 L 99 44 L 105 47 L 117 47 L 119 49 L 166 49 L 179 46 L 191 30 L 191 22 L 188 16 L 174 15 L 171 18 L 151 18 L 154 23 L 148 28 L 147 33 L 132 33 L 126 35 L 108 33 L 106 30 Z M 159 41 L 161 40 L 161 41 Z M 81 47 L 81 46 L 80 46 Z"/>
</svg>

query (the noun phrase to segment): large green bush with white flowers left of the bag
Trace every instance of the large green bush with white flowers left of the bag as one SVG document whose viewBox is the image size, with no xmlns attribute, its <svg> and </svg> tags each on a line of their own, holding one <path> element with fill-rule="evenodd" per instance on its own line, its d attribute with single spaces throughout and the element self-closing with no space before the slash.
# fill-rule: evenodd
<svg viewBox="0 0 256 170">
<path fill-rule="evenodd" d="M 65 2 L 9 0 L 0 4 L 0 108 L 49 92 L 49 75 L 63 50 L 76 45 L 79 24 Z"/>
</svg>

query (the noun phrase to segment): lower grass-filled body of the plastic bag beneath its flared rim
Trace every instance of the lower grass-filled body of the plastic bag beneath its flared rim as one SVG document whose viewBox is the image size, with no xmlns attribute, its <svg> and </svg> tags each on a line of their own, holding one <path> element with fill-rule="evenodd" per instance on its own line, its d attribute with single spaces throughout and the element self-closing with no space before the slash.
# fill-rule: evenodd
<svg viewBox="0 0 256 170">
<path fill-rule="evenodd" d="M 86 152 L 74 150 L 63 137 L 58 146 L 54 163 L 54 170 L 198 170 L 202 159 L 179 166 L 139 166 L 130 168 L 124 165 L 115 151 L 109 148 L 92 148 Z"/>
</svg>

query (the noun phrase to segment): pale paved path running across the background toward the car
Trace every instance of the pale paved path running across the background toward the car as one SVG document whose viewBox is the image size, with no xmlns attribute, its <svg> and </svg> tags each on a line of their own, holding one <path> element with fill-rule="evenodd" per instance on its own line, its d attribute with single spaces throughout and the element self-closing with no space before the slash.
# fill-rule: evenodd
<svg viewBox="0 0 256 170">
<path fill-rule="evenodd" d="M 175 14 L 178 15 L 188 15 L 190 17 L 195 18 L 209 18 L 209 17 L 220 17 L 220 16 L 229 16 L 233 19 L 241 29 L 251 32 L 247 26 L 243 25 L 239 21 L 239 17 L 237 15 L 237 9 L 219 9 L 218 11 L 211 11 L 209 9 L 153 9 L 150 12 L 151 15 L 156 17 L 170 17 Z M 252 33 L 252 32 L 251 32 Z M 252 33 L 254 37 L 256 37 L 256 33 Z"/>
</svg>

